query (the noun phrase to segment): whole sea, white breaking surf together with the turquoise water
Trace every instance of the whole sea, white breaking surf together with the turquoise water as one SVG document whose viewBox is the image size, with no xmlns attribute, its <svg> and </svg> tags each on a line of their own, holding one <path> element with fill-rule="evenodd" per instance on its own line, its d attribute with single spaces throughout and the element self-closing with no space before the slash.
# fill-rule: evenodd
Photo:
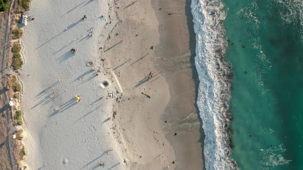
<svg viewBox="0 0 303 170">
<path fill-rule="evenodd" d="M 302 3 L 192 2 L 206 169 L 303 169 Z"/>
</svg>

